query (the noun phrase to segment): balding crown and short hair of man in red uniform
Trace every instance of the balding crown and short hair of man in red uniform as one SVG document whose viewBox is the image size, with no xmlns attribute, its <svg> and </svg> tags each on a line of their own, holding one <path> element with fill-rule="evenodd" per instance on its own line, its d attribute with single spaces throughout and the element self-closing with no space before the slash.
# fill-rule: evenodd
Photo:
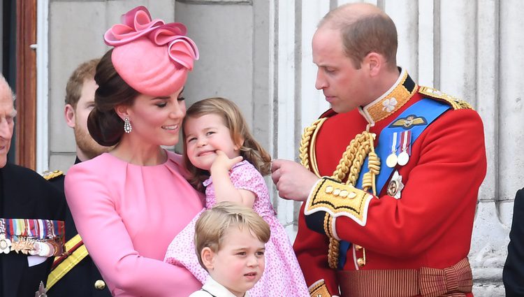
<svg viewBox="0 0 524 297">
<path fill-rule="evenodd" d="M 378 9 L 378 8 L 377 8 Z M 339 29 L 344 53 L 356 68 L 365 56 L 377 52 L 386 58 L 391 68 L 397 64 L 398 36 L 395 23 L 386 13 L 351 15 L 351 4 L 331 10 L 319 22 L 319 27 Z"/>
</svg>

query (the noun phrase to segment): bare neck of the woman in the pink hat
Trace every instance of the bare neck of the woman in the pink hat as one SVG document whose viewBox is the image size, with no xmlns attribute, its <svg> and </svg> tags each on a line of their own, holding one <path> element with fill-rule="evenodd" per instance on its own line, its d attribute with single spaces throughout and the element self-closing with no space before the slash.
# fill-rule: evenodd
<svg viewBox="0 0 524 297">
<path fill-rule="evenodd" d="M 155 166 L 165 163 L 167 159 L 166 151 L 159 145 L 135 143 L 125 136 L 110 154 L 138 166 Z"/>
</svg>

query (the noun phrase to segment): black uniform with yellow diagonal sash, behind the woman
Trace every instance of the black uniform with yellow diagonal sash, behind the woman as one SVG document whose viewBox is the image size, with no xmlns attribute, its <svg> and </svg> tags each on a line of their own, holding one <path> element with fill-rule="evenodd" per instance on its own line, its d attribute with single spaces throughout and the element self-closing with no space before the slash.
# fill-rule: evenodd
<svg viewBox="0 0 524 297">
<path fill-rule="evenodd" d="M 80 163 L 78 157 L 75 164 Z M 64 193 L 65 175 L 53 178 L 50 182 Z M 71 210 L 67 208 L 66 214 L 66 240 L 70 240 L 78 234 Z M 53 287 L 48 291 L 49 297 L 110 297 L 108 287 L 103 290 L 96 289 L 94 282 L 103 280 L 99 269 L 94 265 L 90 256 L 86 256 L 80 263 L 69 270 Z"/>
</svg>

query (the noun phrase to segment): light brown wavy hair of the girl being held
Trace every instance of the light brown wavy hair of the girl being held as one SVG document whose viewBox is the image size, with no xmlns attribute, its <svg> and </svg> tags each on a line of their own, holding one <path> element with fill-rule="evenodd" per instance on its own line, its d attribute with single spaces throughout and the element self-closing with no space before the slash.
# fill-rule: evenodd
<svg viewBox="0 0 524 297">
<path fill-rule="evenodd" d="M 249 127 L 240 113 L 240 109 L 233 101 L 228 99 L 214 97 L 197 101 L 187 109 L 186 117 L 182 122 L 182 128 L 185 127 L 187 120 L 192 117 L 201 117 L 203 115 L 214 114 L 221 117 L 224 125 L 231 133 L 233 143 L 240 147 L 240 156 L 255 166 L 262 175 L 268 175 L 271 168 L 271 157 L 263 147 L 253 138 Z M 199 191 L 203 191 L 202 182 L 209 178 L 210 173 L 200 168 L 196 168 L 189 157 L 187 157 L 187 143 L 185 129 L 182 129 L 182 139 L 184 140 L 184 165 L 191 173 L 189 182 Z M 242 140 L 244 143 L 242 144 Z"/>
</svg>

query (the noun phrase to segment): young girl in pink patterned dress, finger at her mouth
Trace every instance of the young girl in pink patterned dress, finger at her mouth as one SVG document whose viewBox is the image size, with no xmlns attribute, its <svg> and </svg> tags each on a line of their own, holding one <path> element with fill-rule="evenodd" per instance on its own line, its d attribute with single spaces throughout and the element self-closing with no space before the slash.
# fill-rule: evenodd
<svg viewBox="0 0 524 297">
<path fill-rule="evenodd" d="M 205 207 L 222 201 L 247 205 L 270 226 L 265 272 L 249 290 L 249 296 L 310 296 L 262 178 L 270 171 L 271 158 L 249 133 L 235 103 L 222 98 L 198 101 L 187 110 L 182 129 L 190 182 L 201 191 L 205 188 Z M 171 242 L 164 261 L 187 268 L 204 283 L 209 275 L 198 263 L 194 247 L 194 226 L 199 216 Z"/>
</svg>

